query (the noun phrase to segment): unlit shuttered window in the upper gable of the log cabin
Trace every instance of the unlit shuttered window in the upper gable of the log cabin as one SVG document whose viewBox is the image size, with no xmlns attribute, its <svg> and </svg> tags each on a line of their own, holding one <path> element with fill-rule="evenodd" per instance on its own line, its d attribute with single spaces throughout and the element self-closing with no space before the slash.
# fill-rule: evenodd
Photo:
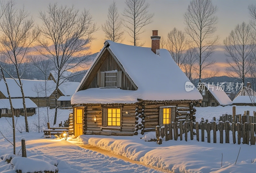
<svg viewBox="0 0 256 173">
<path fill-rule="evenodd" d="M 98 75 L 98 85 L 100 88 L 121 88 L 122 87 L 122 71 L 105 71 Z"/>
</svg>

